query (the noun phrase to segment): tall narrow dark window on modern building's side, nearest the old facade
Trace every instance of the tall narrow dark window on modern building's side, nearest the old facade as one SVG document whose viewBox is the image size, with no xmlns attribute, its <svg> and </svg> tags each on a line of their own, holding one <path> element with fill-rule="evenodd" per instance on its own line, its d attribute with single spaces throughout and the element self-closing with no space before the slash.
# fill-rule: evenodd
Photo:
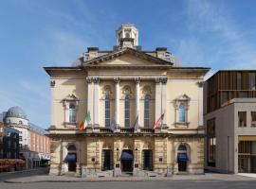
<svg viewBox="0 0 256 189">
<path fill-rule="evenodd" d="M 215 118 L 207 122 L 207 150 L 208 166 L 215 166 L 216 158 L 216 136 L 215 136 Z"/>
</svg>

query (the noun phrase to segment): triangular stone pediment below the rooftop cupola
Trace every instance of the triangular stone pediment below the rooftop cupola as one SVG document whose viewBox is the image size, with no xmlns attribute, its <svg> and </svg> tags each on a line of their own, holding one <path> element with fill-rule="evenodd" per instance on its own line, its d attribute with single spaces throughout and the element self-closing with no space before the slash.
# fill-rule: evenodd
<svg viewBox="0 0 256 189">
<path fill-rule="evenodd" d="M 161 60 L 131 48 L 121 49 L 101 57 L 86 60 L 84 66 L 172 66 L 173 63 Z"/>
</svg>

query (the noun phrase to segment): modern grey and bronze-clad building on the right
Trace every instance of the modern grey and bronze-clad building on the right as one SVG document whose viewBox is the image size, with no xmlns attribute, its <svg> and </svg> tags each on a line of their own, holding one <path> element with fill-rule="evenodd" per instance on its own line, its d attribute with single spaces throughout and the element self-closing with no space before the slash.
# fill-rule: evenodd
<svg viewBox="0 0 256 189">
<path fill-rule="evenodd" d="M 256 71 L 218 71 L 204 84 L 205 167 L 256 173 Z"/>
</svg>

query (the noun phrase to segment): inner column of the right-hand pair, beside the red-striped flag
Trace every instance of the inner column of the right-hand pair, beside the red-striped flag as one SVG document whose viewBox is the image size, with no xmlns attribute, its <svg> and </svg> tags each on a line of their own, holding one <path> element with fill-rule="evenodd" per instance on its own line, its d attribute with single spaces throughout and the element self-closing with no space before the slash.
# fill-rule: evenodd
<svg viewBox="0 0 256 189">
<path fill-rule="evenodd" d="M 161 116 L 161 87 L 160 78 L 155 78 L 155 122 Z"/>
</svg>

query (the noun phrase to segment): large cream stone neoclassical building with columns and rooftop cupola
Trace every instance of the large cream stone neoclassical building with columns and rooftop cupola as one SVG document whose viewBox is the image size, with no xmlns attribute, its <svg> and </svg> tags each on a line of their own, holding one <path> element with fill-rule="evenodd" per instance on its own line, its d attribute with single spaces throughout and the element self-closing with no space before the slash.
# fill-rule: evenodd
<svg viewBox="0 0 256 189">
<path fill-rule="evenodd" d="M 202 82 L 209 68 L 182 67 L 165 47 L 142 50 L 131 24 L 119 27 L 117 44 L 109 51 L 88 47 L 70 67 L 45 67 L 50 174 L 203 173 Z"/>
</svg>

